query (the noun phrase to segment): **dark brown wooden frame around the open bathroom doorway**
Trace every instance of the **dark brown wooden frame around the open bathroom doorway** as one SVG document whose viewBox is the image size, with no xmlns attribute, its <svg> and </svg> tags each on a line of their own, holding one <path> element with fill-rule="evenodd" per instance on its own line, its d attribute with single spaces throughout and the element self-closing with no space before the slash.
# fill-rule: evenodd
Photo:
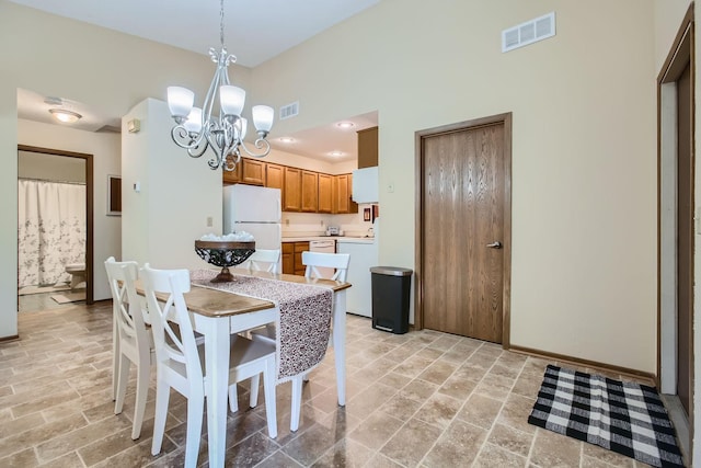
<svg viewBox="0 0 701 468">
<path fill-rule="evenodd" d="M 65 151 L 60 149 L 41 148 L 28 145 L 18 145 L 18 151 L 38 152 L 68 158 L 80 158 L 85 161 L 85 304 L 94 303 L 94 275 L 93 275 L 93 241 L 94 241 L 94 214 L 93 214 L 93 155 L 84 152 Z"/>
</svg>

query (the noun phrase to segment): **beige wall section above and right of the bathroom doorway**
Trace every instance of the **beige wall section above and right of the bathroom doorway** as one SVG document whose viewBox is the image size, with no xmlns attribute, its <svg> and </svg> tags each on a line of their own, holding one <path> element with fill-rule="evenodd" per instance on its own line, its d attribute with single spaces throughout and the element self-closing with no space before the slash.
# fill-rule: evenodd
<svg viewBox="0 0 701 468">
<path fill-rule="evenodd" d="M 112 297 L 103 262 L 110 255 L 119 258 L 122 220 L 116 216 L 107 216 L 106 182 L 107 174 L 120 173 L 119 135 L 19 121 L 18 142 L 93 155 L 93 297 L 95 300 Z"/>
</svg>

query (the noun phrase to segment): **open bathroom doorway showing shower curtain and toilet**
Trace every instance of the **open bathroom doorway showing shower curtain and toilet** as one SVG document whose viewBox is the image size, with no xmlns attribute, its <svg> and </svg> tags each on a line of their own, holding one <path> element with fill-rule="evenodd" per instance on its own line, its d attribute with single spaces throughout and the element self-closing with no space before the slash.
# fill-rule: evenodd
<svg viewBox="0 0 701 468">
<path fill-rule="evenodd" d="M 92 155 L 18 146 L 18 310 L 93 303 Z"/>
</svg>

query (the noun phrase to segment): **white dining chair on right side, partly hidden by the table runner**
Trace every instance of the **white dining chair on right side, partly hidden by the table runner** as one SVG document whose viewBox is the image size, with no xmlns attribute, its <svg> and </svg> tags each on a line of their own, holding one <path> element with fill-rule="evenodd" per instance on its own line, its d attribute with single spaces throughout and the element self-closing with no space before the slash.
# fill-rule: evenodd
<svg viewBox="0 0 701 468">
<path fill-rule="evenodd" d="M 325 252 L 302 252 L 302 264 L 307 266 L 304 270 L 304 277 L 307 278 L 321 278 L 345 282 L 348 273 L 348 264 L 350 263 L 349 253 L 325 253 Z M 318 269 L 334 269 L 334 273 L 330 276 L 324 275 Z M 264 329 L 256 329 L 251 332 L 251 336 L 254 341 L 264 341 L 267 343 L 275 343 L 275 328 L 266 327 Z M 331 345 L 332 340 L 329 336 L 329 343 Z M 302 381 L 307 380 L 307 375 L 300 375 L 291 380 L 292 395 L 291 395 L 291 412 L 290 412 L 290 431 L 297 431 L 299 429 L 299 418 L 301 412 L 302 401 Z M 253 383 L 251 383 L 253 385 Z M 253 391 L 253 388 L 251 388 Z"/>
</svg>

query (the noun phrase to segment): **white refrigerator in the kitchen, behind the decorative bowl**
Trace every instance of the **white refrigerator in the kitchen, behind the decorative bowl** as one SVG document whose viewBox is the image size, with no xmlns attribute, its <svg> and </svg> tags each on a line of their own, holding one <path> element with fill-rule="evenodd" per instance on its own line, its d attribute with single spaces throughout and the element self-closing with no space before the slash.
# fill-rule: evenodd
<svg viewBox="0 0 701 468">
<path fill-rule="evenodd" d="M 256 249 L 281 249 L 279 189 L 242 184 L 223 187 L 223 235 L 246 231 L 253 235 Z"/>
</svg>

